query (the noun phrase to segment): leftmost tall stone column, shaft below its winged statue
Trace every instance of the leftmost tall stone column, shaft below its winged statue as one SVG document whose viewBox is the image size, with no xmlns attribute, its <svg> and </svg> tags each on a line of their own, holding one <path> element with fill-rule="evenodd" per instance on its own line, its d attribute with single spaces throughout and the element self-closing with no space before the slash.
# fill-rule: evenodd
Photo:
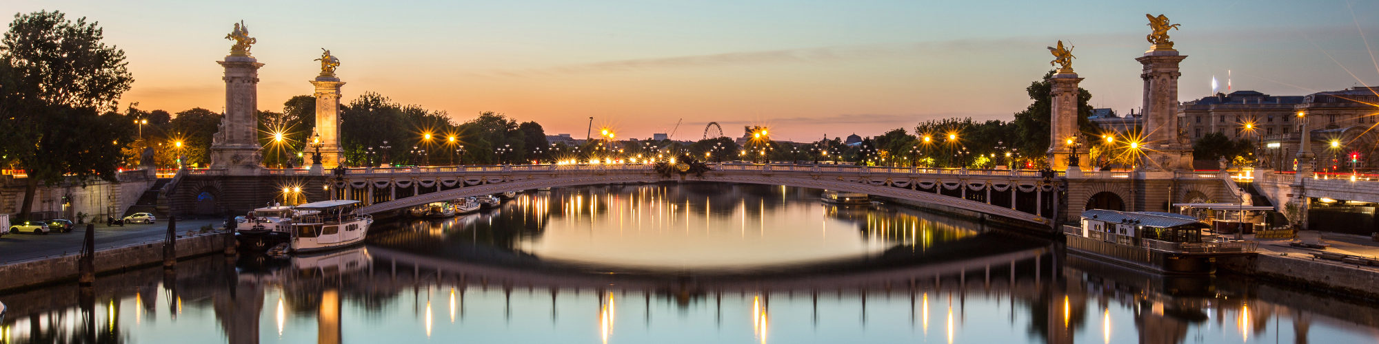
<svg viewBox="0 0 1379 344">
<path fill-rule="evenodd" d="M 263 63 L 248 55 L 229 55 L 225 67 L 225 118 L 211 143 L 211 169 L 232 175 L 255 175 L 263 157 L 258 143 L 258 69 Z"/>
</svg>

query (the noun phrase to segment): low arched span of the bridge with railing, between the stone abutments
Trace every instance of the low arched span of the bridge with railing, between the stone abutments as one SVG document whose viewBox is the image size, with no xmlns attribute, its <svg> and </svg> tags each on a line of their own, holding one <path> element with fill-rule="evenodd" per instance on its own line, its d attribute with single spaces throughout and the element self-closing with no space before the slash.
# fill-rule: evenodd
<svg viewBox="0 0 1379 344">
<path fill-rule="evenodd" d="M 1038 171 L 910 169 L 847 165 L 714 164 L 703 176 L 666 178 L 651 165 L 491 165 L 352 168 L 335 198 L 359 200 L 376 213 L 437 201 L 541 187 L 665 180 L 783 184 L 865 193 L 1047 226 L 1060 179 Z"/>
</svg>

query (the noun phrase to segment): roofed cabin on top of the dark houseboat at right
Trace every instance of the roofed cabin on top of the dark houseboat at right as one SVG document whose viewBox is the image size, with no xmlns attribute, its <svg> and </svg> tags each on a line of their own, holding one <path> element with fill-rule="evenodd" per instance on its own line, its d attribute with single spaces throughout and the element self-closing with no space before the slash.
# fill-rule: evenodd
<svg viewBox="0 0 1379 344">
<path fill-rule="evenodd" d="M 1208 226 L 1197 217 L 1165 212 L 1118 212 L 1106 209 L 1083 211 L 1083 237 L 1120 241 L 1202 242 L 1201 230 Z M 1123 242 L 1128 245 L 1138 245 Z"/>
</svg>

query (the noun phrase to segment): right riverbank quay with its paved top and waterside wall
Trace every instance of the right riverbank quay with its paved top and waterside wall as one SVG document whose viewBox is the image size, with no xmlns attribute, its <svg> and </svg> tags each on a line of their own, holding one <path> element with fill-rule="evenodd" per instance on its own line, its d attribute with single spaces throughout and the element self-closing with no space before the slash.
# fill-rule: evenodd
<svg viewBox="0 0 1379 344">
<path fill-rule="evenodd" d="M 1254 235 L 1245 235 L 1247 239 Z M 1322 253 L 1375 257 L 1379 242 L 1361 235 L 1320 234 L 1325 249 L 1289 246 L 1291 239 L 1262 239 L 1259 255 L 1218 261 L 1229 272 L 1271 282 L 1379 301 L 1379 266 L 1322 259 Z"/>
</svg>

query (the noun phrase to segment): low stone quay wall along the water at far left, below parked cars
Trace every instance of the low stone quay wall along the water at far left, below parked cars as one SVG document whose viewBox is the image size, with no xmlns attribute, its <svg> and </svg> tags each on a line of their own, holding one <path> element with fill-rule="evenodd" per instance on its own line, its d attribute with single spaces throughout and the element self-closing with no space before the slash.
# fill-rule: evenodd
<svg viewBox="0 0 1379 344">
<path fill-rule="evenodd" d="M 223 252 L 234 239 L 225 233 L 178 238 L 177 256 L 188 259 Z M 0 290 L 19 289 L 63 281 L 76 281 L 81 255 L 66 255 L 0 266 Z M 163 263 L 163 241 L 108 248 L 95 252 L 97 279 L 101 274 L 120 272 L 135 267 Z"/>
</svg>

